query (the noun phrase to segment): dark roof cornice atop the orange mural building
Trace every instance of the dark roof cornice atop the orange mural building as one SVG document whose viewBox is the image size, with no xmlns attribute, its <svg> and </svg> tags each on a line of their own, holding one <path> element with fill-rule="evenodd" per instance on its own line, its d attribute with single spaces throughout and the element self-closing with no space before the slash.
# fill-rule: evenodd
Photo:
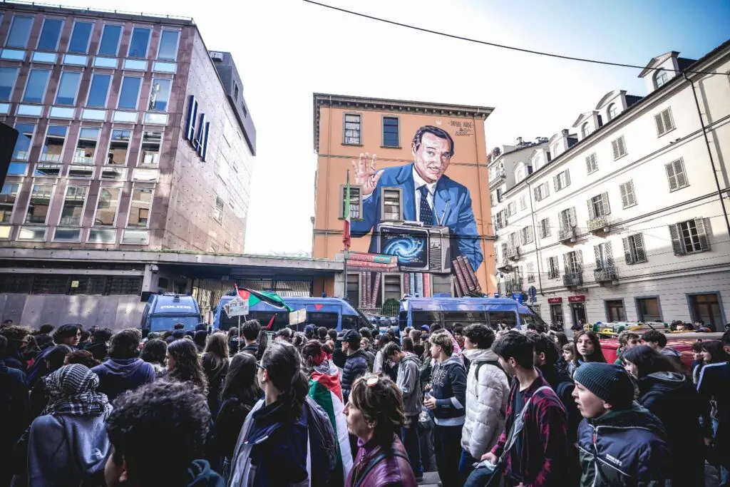
<svg viewBox="0 0 730 487">
<path fill-rule="evenodd" d="M 364 96 L 332 95 L 313 93 L 314 107 L 314 149 L 319 152 L 320 107 L 339 107 L 350 110 L 372 110 L 418 113 L 420 115 L 443 115 L 453 118 L 486 118 L 494 110 L 491 107 L 431 103 L 428 101 L 389 100 Z"/>
</svg>

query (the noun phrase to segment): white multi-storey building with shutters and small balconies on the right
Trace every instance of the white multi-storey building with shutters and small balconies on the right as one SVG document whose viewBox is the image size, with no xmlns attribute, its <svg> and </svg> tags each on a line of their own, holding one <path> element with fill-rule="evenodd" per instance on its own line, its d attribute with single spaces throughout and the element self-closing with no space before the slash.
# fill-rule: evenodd
<svg viewBox="0 0 730 487">
<path fill-rule="evenodd" d="M 702 320 L 722 331 L 730 42 L 699 61 L 658 56 L 639 77 L 647 96 L 607 93 L 572 130 L 491 160 L 499 293 L 534 294 L 542 318 L 566 327 Z"/>
</svg>

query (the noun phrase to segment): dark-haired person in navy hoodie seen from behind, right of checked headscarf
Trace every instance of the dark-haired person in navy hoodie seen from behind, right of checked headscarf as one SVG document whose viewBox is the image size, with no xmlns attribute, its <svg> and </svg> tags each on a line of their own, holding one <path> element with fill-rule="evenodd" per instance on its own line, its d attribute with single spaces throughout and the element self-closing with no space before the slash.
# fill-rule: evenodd
<svg viewBox="0 0 730 487">
<path fill-rule="evenodd" d="M 109 360 L 94 367 L 99 375 L 99 392 L 114 401 L 124 391 L 138 388 L 155 380 L 155 369 L 139 358 L 140 335 L 137 330 L 126 329 L 112 336 Z"/>
</svg>

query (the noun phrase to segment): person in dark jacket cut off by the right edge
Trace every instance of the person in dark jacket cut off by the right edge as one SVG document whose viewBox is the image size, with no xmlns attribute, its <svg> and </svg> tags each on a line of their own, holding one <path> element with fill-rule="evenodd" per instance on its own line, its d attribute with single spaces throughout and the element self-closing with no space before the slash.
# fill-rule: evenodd
<svg viewBox="0 0 730 487">
<path fill-rule="evenodd" d="M 717 342 L 702 342 L 706 365 L 699 373 L 697 391 L 702 398 L 705 442 L 712 443 L 718 453 L 721 464 L 720 485 L 725 487 L 730 485 L 730 331 L 723 334 L 720 345 L 718 349 Z M 708 356 L 710 353 L 711 357 Z M 715 401 L 712 419 L 711 400 Z"/>
</svg>

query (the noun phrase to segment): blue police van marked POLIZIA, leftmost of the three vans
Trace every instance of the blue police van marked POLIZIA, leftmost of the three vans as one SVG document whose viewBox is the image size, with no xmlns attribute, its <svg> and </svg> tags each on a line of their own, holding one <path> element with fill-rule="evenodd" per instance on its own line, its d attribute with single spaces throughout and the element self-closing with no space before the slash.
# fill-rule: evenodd
<svg viewBox="0 0 730 487">
<path fill-rule="evenodd" d="M 142 332 L 167 331 L 177 323 L 185 325 L 185 331 L 194 330 L 203 321 L 198 302 L 186 294 L 150 294 L 142 311 Z"/>
</svg>

